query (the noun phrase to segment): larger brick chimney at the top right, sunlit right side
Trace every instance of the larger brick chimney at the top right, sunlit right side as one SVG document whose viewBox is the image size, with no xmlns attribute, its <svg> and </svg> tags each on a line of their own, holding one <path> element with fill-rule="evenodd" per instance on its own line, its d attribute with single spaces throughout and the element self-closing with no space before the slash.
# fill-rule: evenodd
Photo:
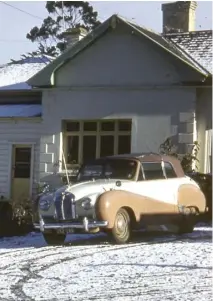
<svg viewBox="0 0 213 301">
<path fill-rule="evenodd" d="M 177 1 L 162 4 L 163 33 L 195 30 L 196 1 Z"/>
</svg>

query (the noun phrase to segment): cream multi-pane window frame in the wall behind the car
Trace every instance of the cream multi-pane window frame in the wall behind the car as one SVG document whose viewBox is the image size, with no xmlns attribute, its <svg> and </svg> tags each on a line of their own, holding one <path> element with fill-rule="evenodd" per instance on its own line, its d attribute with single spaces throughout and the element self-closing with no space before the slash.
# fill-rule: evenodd
<svg viewBox="0 0 213 301">
<path fill-rule="evenodd" d="M 79 122 L 79 131 L 66 131 L 66 124 L 68 122 Z M 101 131 L 101 124 L 105 121 L 111 121 L 114 123 L 113 131 Z M 120 121 L 129 121 L 131 122 L 131 130 L 130 131 L 119 131 L 119 122 Z M 84 131 L 84 122 L 96 122 L 97 130 L 96 131 Z M 69 136 L 78 136 L 79 137 L 79 148 L 78 148 L 78 162 L 76 164 L 67 164 L 67 167 L 79 166 L 83 163 L 83 137 L 84 136 L 96 136 L 96 159 L 100 158 L 100 150 L 101 150 L 101 136 L 113 136 L 114 137 L 114 151 L 113 155 L 118 154 L 118 138 L 119 136 L 130 136 L 130 141 L 132 138 L 132 119 L 102 119 L 102 120 L 64 120 L 63 121 L 63 129 L 62 129 L 62 149 L 64 152 L 65 160 L 67 161 L 67 137 Z M 64 164 L 62 164 L 64 166 Z"/>
</svg>

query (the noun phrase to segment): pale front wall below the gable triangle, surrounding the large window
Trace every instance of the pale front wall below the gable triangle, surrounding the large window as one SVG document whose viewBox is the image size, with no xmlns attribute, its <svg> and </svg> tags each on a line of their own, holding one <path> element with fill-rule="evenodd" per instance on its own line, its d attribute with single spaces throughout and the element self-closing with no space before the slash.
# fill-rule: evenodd
<svg viewBox="0 0 213 301">
<path fill-rule="evenodd" d="M 69 91 L 43 93 L 43 137 L 40 177 L 56 171 L 61 160 L 62 120 L 132 118 L 132 152 L 157 152 L 173 135 L 180 152 L 193 142 L 195 91 L 192 88 L 131 91 Z"/>
</svg>

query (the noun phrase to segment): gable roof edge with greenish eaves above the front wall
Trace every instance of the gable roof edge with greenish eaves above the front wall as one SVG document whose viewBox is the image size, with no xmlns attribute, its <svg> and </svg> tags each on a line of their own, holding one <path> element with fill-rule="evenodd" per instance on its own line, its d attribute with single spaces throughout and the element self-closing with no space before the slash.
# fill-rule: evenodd
<svg viewBox="0 0 213 301">
<path fill-rule="evenodd" d="M 47 65 L 43 70 L 35 74 L 28 80 L 28 84 L 35 87 L 49 87 L 54 85 L 54 74 L 56 70 L 65 64 L 68 60 L 71 60 L 83 49 L 91 45 L 95 40 L 100 38 L 109 28 L 115 28 L 117 23 L 123 23 L 129 26 L 139 36 L 145 37 L 155 43 L 158 47 L 164 49 L 170 55 L 176 57 L 182 63 L 185 63 L 202 76 L 206 76 L 206 70 L 200 67 L 192 58 L 185 52 L 179 49 L 175 43 L 170 42 L 161 34 L 158 34 L 152 30 L 133 24 L 127 19 L 112 15 L 105 22 L 100 24 L 92 32 L 87 34 L 83 39 L 74 44 L 72 47 L 68 47 L 61 55 L 59 55 L 54 61 Z"/>
</svg>

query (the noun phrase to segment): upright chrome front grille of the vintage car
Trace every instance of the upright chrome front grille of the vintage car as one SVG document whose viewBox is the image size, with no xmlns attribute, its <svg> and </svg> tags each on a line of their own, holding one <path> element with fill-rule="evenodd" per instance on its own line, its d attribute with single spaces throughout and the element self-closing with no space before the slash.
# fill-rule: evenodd
<svg viewBox="0 0 213 301">
<path fill-rule="evenodd" d="M 56 218 L 58 220 L 70 220 L 75 218 L 74 195 L 58 195 L 55 199 Z"/>
</svg>

